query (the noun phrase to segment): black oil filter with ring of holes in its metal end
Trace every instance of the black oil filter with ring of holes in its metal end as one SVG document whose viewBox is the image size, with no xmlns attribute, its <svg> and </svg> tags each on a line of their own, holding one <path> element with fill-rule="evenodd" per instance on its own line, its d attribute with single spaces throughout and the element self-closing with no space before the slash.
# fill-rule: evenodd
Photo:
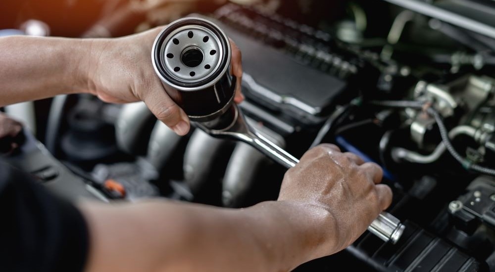
<svg viewBox="0 0 495 272">
<path fill-rule="evenodd" d="M 165 91 L 195 122 L 208 122 L 227 112 L 234 100 L 236 78 L 230 74 L 227 35 L 202 18 L 169 24 L 156 38 L 152 61 Z"/>
</svg>

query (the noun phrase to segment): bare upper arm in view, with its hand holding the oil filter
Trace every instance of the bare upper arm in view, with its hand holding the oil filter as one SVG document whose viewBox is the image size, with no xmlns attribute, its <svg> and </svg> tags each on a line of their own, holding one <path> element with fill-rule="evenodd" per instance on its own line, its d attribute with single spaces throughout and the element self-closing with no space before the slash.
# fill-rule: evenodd
<svg viewBox="0 0 495 272">
<path fill-rule="evenodd" d="M 81 92 L 113 103 L 143 100 L 159 120 L 185 135 L 189 118 L 163 90 L 151 64 L 160 29 L 119 39 L 0 38 L 0 106 Z M 235 44 L 232 67 L 241 78 Z M 243 100 L 240 80 L 235 100 Z"/>
</svg>

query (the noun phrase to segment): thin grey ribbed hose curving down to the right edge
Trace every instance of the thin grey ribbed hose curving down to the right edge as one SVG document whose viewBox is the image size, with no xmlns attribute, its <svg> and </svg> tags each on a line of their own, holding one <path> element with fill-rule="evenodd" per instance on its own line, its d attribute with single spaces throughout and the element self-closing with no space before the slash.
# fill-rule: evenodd
<svg viewBox="0 0 495 272">
<path fill-rule="evenodd" d="M 375 106 L 392 107 L 392 108 L 415 108 L 415 109 L 423 109 L 425 106 L 427 106 L 426 103 L 420 101 L 371 101 L 369 102 L 369 104 Z M 433 116 L 433 118 L 435 118 L 435 121 L 437 122 L 438 128 L 440 130 L 440 136 L 442 137 L 442 141 L 444 142 L 450 155 L 452 155 L 452 157 L 455 160 L 457 160 L 467 170 L 473 170 L 482 174 L 495 176 L 495 169 L 474 164 L 471 161 L 467 160 L 466 158 L 463 158 L 455 150 L 452 143 L 450 142 L 450 139 L 448 137 L 448 131 L 445 127 L 444 121 L 440 113 L 438 113 L 438 111 L 436 111 L 432 107 L 428 107 L 426 111 L 428 112 L 428 114 Z"/>
</svg>

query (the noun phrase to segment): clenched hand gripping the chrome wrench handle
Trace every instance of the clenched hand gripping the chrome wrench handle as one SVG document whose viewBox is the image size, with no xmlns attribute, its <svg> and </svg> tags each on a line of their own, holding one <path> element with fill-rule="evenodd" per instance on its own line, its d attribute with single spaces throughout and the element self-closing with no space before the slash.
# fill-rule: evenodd
<svg viewBox="0 0 495 272">
<path fill-rule="evenodd" d="M 313 234 L 325 239 L 314 258 L 349 246 L 390 206 L 392 190 L 379 184 L 382 175 L 377 164 L 364 163 L 349 152 L 341 153 L 332 144 L 309 150 L 287 171 L 278 200 L 307 203 L 311 209 L 308 214 L 324 214 L 327 218 L 323 226 L 317 226 L 321 232 Z"/>
</svg>

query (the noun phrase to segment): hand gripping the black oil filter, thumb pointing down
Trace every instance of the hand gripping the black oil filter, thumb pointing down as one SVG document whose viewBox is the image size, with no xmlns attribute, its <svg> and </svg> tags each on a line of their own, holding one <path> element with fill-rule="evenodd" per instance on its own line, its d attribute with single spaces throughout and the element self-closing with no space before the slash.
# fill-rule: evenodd
<svg viewBox="0 0 495 272">
<path fill-rule="evenodd" d="M 156 118 L 178 135 L 186 135 L 190 130 L 189 118 L 167 95 L 151 62 L 151 48 L 161 30 L 162 27 L 158 27 L 119 39 L 90 40 L 92 49 L 86 67 L 89 71 L 87 89 L 105 102 L 142 100 Z M 238 78 L 235 101 L 240 103 L 244 99 L 241 93 L 241 52 L 233 41 L 231 45 L 231 72 Z"/>
</svg>

